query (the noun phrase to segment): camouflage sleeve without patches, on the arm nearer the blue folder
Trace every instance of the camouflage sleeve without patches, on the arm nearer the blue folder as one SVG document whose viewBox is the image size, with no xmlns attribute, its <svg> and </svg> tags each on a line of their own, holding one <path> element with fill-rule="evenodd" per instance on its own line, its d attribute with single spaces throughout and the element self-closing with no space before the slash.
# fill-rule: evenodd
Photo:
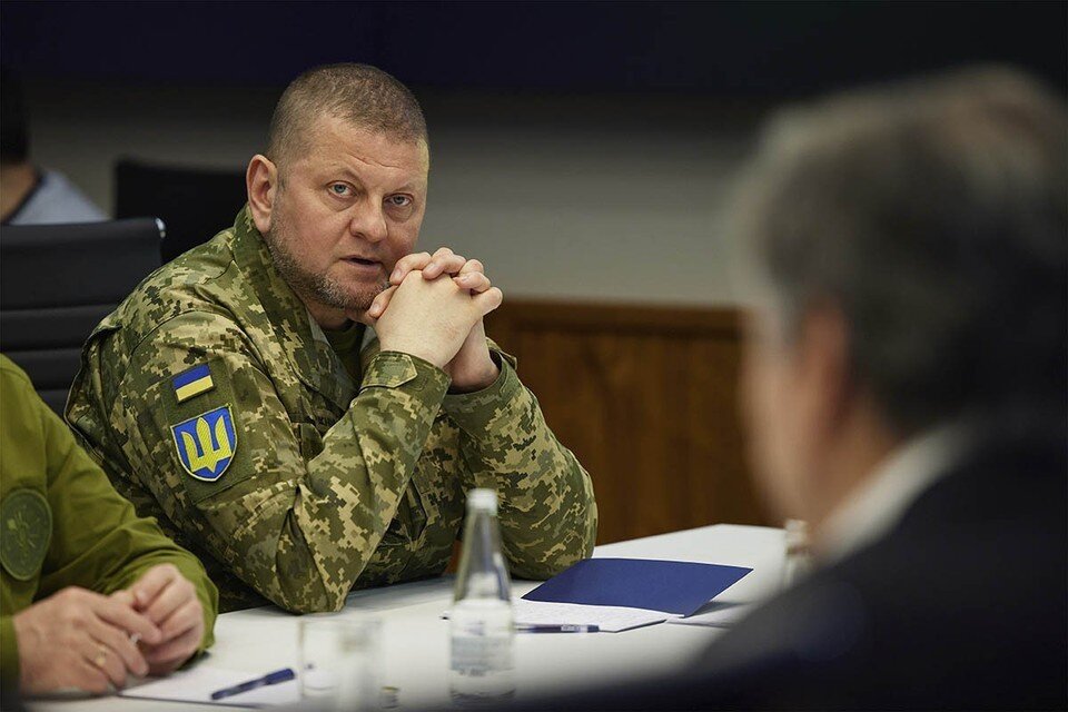
<svg viewBox="0 0 1068 712">
<path fill-rule="evenodd" d="M 515 359 L 496 348 L 501 375 L 490 387 L 445 396 L 461 429 L 464 487 L 500 498 L 501 535 L 512 573 L 548 578 L 593 552 L 597 505 L 590 474 L 548 429 Z"/>
</svg>

